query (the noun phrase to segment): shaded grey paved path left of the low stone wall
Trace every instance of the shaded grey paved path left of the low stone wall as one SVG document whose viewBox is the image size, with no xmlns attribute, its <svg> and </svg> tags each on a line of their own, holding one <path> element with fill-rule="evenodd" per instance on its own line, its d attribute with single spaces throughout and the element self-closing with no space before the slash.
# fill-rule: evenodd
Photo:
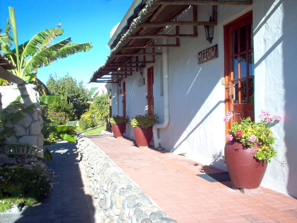
<svg viewBox="0 0 297 223">
<path fill-rule="evenodd" d="M 50 198 L 40 205 L 25 207 L 20 213 L 0 214 L 1 223 L 91 223 L 94 208 L 91 197 L 84 192 L 75 144 L 62 141 L 48 146 L 53 161 L 48 167 L 56 178 Z"/>
</svg>

